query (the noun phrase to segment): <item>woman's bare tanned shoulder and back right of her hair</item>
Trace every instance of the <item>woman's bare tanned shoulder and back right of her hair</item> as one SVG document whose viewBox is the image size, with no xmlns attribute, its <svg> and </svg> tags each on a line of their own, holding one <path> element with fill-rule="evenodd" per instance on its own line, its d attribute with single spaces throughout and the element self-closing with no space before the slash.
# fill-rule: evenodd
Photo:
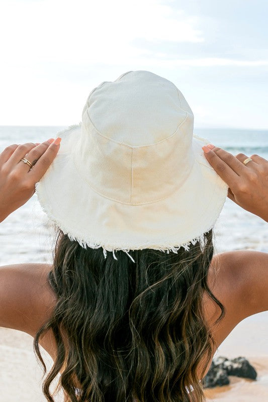
<svg viewBox="0 0 268 402">
<path fill-rule="evenodd" d="M 268 253 L 236 250 L 217 254 L 211 261 L 209 286 L 225 307 L 225 317 L 216 327 L 218 346 L 243 319 L 268 310 Z M 220 309 L 208 296 L 206 317 L 212 327 Z"/>
</svg>

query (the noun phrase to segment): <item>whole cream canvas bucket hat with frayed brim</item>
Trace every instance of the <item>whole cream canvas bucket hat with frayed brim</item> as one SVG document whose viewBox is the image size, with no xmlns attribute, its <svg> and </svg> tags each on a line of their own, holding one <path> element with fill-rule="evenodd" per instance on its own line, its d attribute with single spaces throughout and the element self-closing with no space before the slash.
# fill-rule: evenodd
<svg viewBox="0 0 268 402">
<path fill-rule="evenodd" d="M 228 190 L 193 125 L 183 94 L 163 77 L 128 71 L 102 82 L 82 122 L 58 133 L 59 152 L 36 184 L 43 210 L 71 240 L 103 247 L 105 257 L 188 250 L 214 226 Z"/>
</svg>

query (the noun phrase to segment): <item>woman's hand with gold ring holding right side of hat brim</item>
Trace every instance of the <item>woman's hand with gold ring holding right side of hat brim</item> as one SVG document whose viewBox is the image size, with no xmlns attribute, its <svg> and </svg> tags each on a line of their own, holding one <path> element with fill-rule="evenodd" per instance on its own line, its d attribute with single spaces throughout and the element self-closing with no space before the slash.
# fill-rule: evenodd
<svg viewBox="0 0 268 402">
<path fill-rule="evenodd" d="M 212 144 L 202 147 L 205 157 L 228 184 L 228 198 L 246 211 L 268 222 L 268 161 L 259 155 L 233 156 Z"/>
</svg>

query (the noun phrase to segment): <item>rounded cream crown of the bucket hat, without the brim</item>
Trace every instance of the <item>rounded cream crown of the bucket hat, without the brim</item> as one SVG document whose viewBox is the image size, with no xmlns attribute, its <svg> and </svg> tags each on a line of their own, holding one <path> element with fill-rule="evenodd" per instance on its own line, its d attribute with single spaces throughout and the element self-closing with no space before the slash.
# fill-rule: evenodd
<svg viewBox="0 0 268 402">
<path fill-rule="evenodd" d="M 192 169 L 193 125 L 193 113 L 172 82 L 149 71 L 128 71 L 88 96 L 76 167 L 109 199 L 156 202 L 180 187 Z"/>
</svg>

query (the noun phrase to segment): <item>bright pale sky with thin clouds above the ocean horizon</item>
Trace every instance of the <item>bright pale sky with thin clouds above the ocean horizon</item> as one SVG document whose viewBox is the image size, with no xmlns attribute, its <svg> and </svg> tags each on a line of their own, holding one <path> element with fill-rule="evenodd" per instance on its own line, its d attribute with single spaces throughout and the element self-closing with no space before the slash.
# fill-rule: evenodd
<svg viewBox="0 0 268 402">
<path fill-rule="evenodd" d="M 268 129 L 267 0 L 0 0 L 0 125 L 79 123 L 130 70 L 182 91 L 196 128 Z"/>
</svg>

